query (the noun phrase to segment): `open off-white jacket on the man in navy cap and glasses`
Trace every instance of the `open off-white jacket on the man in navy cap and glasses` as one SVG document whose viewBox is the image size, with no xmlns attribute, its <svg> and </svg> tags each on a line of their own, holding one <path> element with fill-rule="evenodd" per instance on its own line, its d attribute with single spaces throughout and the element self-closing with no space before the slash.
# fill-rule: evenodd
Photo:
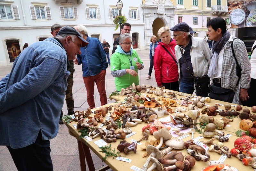
<svg viewBox="0 0 256 171">
<path fill-rule="evenodd" d="M 211 57 L 211 50 L 207 45 L 207 41 L 202 38 L 193 37 L 192 39 L 192 46 L 190 49 L 190 56 L 191 56 L 191 63 L 193 67 L 193 72 L 195 77 L 201 77 L 207 75 L 208 68 L 210 66 L 210 57 Z M 180 83 L 180 58 L 182 58 L 180 52 L 180 46 L 175 46 L 175 55 L 178 61 L 178 71 L 179 71 L 179 83 Z M 185 51 L 183 50 L 183 53 Z"/>
</svg>

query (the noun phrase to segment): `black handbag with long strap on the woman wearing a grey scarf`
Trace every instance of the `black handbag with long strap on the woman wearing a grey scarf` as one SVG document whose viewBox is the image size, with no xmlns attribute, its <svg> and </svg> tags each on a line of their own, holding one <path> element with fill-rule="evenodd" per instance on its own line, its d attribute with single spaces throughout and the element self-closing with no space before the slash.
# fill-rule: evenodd
<svg viewBox="0 0 256 171">
<path fill-rule="evenodd" d="M 235 39 L 237 39 L 237 38 L 235 38 Z M 236 83 L 236 87 L 237 87 L 239 84 L 239 81 L 240 81 L 240 77 L 241 77 L 241 68 L 239 67 L 237 59 L 236 59 L 236 55 L 235 55 L 234 47 L 233 47 L 233 41 L 231 42 L 231 49 L 232 49 L 232 53 L 233 53 L 233 56 L 236 61 L 236 75 L 238 76 L 238 80 Z M 222 87 L 218 87 L 213 84 L 209 85 L 209 88 L 210 88 L 209 97 L 212 99 L 215 99 L 215 100 L 232 103 L 234 96 L 235 96 L 236 87 L 234 89 L 224 89 Z"/>
</svg>

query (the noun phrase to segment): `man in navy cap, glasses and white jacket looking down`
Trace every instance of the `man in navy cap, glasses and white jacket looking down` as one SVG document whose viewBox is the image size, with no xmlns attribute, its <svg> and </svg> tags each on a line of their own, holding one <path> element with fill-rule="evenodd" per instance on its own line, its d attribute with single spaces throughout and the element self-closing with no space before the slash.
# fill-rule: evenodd
<svg viewBox="0 0 256 171">
<path fill-rule="evenodd" d="M 189 26 L 181 22 L 170 29 L 176 41 L 175 55 L 178 59 L 180 92 L 192 94 L 196 87 L 197 96 L 208 96 L 208 68 L 211 50 L 205 39 L 190 35 Z"/>
</svg>

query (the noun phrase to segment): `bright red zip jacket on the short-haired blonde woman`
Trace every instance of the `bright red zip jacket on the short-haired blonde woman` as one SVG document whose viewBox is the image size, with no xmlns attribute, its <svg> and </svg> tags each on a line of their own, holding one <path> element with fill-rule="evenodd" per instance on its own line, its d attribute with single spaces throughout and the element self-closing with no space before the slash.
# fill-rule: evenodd
<svg viewBox="0 0 256 171">
<path fill-rule="evenodd" d="M 157 86 L 161 86 L 162 82 L 176 82 L 179 78 L 176 62 L 162 46 L 165 46 L 177 61 L 174 50 L 174 47 L 176 46 L 175 40 L 171 39 L 169 45 L 159 41 L 154 54 L 154 70 Z"/>
</svg>

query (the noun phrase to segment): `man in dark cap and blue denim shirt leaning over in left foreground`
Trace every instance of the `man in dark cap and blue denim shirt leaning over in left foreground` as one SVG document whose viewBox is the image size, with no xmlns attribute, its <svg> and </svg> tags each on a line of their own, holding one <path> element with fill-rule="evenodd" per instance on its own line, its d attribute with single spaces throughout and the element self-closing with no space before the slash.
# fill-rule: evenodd
<svg viewBox="0 0 256 171">
<path fill-rule="evenodd" d="M 27 47 L 0 81 L 0 145 L 20 170 L 53 170 L 50 141 L 59 129 L 67 61 L 88 42 L 69 26 Z"/>
</svg>

